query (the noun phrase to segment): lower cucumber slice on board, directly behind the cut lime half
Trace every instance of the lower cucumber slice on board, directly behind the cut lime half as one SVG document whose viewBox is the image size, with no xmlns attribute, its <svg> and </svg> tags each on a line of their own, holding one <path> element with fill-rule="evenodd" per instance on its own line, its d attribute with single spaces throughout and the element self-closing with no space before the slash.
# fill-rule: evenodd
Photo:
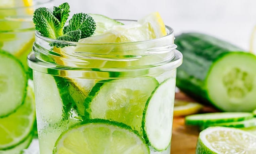
<svg viewBox="0 0 256 154">
<path fill-rule="evenodd" d="M 212 125 L 203 125 L 200 127 L 200 129 L 204 130 L 210 126 L 224 126 L 224 127 L 235 127 L 235 128 L 253 127 L 253 126 L 256 126 L 256 118 L 243 120 L 243 121 L 236 121 L 236 122 L 224 122 L 224 123 L 215 123 Z"/>
</svg>

